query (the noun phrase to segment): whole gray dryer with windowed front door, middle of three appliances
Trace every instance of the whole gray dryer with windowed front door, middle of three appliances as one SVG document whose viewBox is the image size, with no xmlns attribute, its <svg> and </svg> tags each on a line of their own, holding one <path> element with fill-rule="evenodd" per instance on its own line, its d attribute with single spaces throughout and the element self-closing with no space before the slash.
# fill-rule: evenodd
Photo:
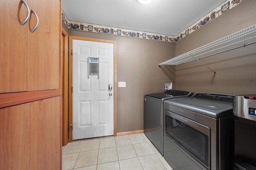
<svg viewBox="0 0 256 170">
<path fill-rule="evenodd" d="M 173 170 L 231 170 L 233 95 L 196 93 L 164 101 L 164 158 Z"/>
</svg>

